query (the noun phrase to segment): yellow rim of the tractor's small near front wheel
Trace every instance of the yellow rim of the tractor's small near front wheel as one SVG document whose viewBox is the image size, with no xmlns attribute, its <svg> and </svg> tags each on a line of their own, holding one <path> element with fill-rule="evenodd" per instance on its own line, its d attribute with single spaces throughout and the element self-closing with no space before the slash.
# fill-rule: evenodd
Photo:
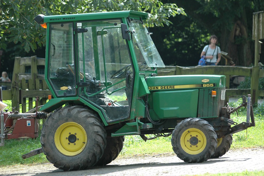
<svg viewBox="0 0 264 176">
<path fill-rule="evenodd" d="M 182 133 L 180 143 L 186 153 L 196 155 L 205 149 L 206 136 L 197 128 L 189 128 Z"/>
</svg>

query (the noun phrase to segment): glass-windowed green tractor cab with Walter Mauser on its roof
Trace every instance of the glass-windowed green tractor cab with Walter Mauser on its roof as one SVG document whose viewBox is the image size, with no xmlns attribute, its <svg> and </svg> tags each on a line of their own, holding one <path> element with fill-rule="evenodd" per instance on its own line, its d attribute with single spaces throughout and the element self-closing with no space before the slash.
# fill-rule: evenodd
<svg viewBox="0 0 264 176">
<path fill-rule="evenodd" d="M 139 82 L 135 74 L 149 76 L 164 67 L 143 24 L 146 13 L 121 13 L 98 13 L 97 20 L 93 14 L 36 17 L 47 22 L 45 78 L 53 97 L 79 97 L 107 123 L 129 117 Z"/>
</svg>

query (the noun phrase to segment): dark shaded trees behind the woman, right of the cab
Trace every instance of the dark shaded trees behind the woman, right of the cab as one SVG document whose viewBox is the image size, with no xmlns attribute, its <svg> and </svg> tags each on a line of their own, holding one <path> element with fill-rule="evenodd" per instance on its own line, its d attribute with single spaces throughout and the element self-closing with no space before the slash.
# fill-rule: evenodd
<svg viewBox="0 0 264 176">
<path fill-rule="evenodd" d="M 213 34 L 219 39 L 218 46 L 221 51 L 227 52 L 236 66 L 248 66 L 253 61 L 252 14 L 263 10 L 263 1 L 176 0 L 167 2 L 175 2 L 183 7 L 187 16 L 173 18 L 171 19 L 173 25 L 154 30 L 159 36 L 155 36 L 154 33 L 152 38 L 166 65 L 196 66 L 203 47 L 209 44 L 208 36 Z M 243 25 L 243 32 L 246 35 L 234 36 L 236 22 Z M 222 58 L 220 65 L 224 64 Z"/>
</svg>

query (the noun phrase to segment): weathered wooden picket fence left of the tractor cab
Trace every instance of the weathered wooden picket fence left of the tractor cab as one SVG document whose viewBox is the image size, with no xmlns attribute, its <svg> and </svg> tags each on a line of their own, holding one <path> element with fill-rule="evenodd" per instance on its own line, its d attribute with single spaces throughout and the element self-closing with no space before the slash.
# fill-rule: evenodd
<svg viewBox="0 0 264 176">
<path fill-rule="evenodd" d="M 37 73 L 37 66 L 39 65 L 45 65 L 44 58 L 37 59 L 36 56 L 15 57 L 12 83 L 5 83 L 11 89 L 3 90 L 2 100 L 11 100 L 12 107 L 18 107 L 28 100 L 30 102 L 28 109 L 26 105 L 22 106 L 23 113 L 34 108 L 31 101 L 35 100 L 36 96 L 40 98 L 38 105 L 44 105 L 51 92 L 43 79 L 44 74 Z M 26 66 L 31 66 L 30 74 L 25 73 Z M 19 108 L 15 110 L 20 111 Z"/>
</svg>

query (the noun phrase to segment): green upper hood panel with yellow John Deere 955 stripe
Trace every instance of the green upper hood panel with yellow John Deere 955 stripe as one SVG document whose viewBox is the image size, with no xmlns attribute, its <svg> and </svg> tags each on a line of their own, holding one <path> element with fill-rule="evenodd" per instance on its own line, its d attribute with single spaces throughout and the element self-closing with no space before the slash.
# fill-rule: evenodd
<svg viewBox="0 0 264 176">
<path fill-rule="evenodd" d="M 223 75 L 173 75 L 146 77 L 149 91 L 225 87 Z"/>
</svg>

